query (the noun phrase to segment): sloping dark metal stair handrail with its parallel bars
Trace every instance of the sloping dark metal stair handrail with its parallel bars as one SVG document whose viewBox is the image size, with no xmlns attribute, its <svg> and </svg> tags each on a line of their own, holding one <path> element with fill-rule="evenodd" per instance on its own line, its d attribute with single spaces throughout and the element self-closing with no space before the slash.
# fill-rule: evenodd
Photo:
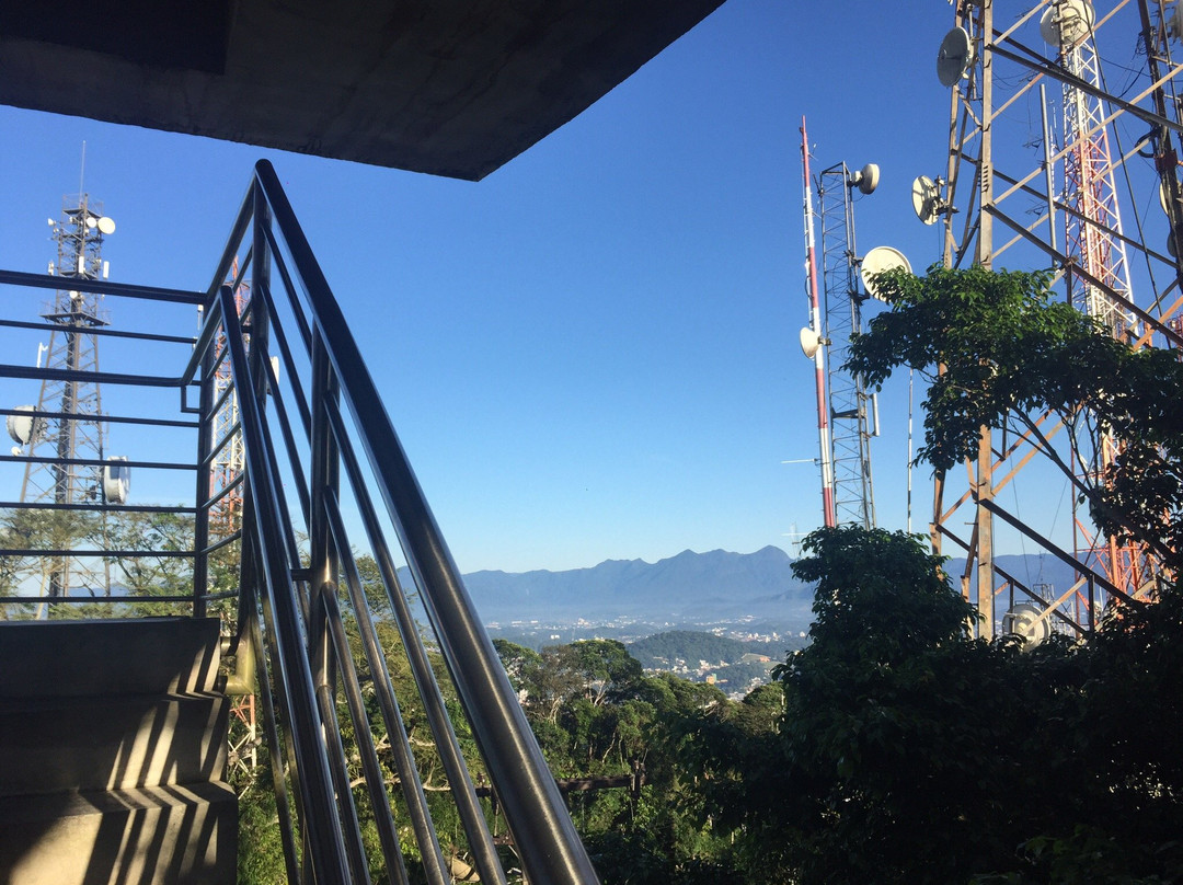
<svg viewBox="0 0 1183 885">
<path fill-rule="evenodd" d="M 245 278 L 250 271 L 251 297 L 240 318 L 232 289 L 221 280 L 233 257 L 244 251 L 248 258 L 239 274 Z M 182 382 L 200 386 L 201 400 L 208 403 L 216 361 L 226 358 L 231 367 L 246 452 L 240 627 L 245 639 L 253 637 L 260 644 L 257 651 L 274 687 L 274 697 L 264 704 L 273 703 L 283 724 L 282 730 L 269 725 L 282 744 L 274 748 L 273 758 L 286 756 L 289 761 L 286 773 L 274 769 L 277 792 L 287 807 L 286 784 L 291 783 L 290 805 L 299 820 L 303 863 L 312 879 L 368 880 L 369 861 L 356 821 L 344 748 L 337 737 L 340 713 L 351 721 L 356 745 L 350 751 L 361 758 L 387 876 L 390 881 L 407 880 L 397 828 L 389 816 L 393 796 L 387 793 L 361 702 L 360 664 L 373 679 L 425 874 L 433 883 L 450 881 L 400 699 L 353 556 L 355 542 L 341 504 L 348 493 L 353 518 L 362 525 L 362 540 L 373 551 L 384 584 L 481 880 L 504 883 L 506 876 L 435 681 L 432 652 L 400 584 L 383 529 L 387 523 L 434 629 L 434 646 L 454 684 L 525 877 L 535 883 L 595 883 L 595 871 L 562 794 L 270 163 L 256 167 L 209 291 L 207 319 Z M 278 373 L 272 369 L 272 347 L 278 351 Z M 218 440 L 207 438 L 199 461 L 216 445 Z M 289 516 L 291 490 L 298 518 Z M 211 498 L 208 487 L 199 490 L 199 500 Z M 375 508 L 375 499 L 384 505 L 384 516 Z M 208 512 L 199 510 L 199 547 L 207 534 Z M 306 536 L 304 544 L 297 541 L 299 535 Z M 360 633 L 362 658 L 357 664 L 338 600 L 350 609 Z M 259 622 L 263 629 L 252 626 Z M 338 695 L 345 699 L 342 710 L 336 703 Z M 285 839 L 295 853 L 295 836 L 289 833 Z M 290 857 L 289 873 L 297 868 L 295 857 Z"/>
</svg>

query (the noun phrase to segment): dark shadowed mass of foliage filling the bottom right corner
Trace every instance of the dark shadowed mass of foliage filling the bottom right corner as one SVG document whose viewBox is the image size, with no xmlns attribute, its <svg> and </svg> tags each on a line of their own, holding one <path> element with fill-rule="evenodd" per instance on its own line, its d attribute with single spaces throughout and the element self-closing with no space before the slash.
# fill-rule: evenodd
<svg viewBox="0 0 1183 885">
<path fill-rule="evenodd" d="M 684 751 L 741 880 L 1183 876 L 1176 594 L 1091 644 L 1023 650 L 971 637 L 918 538 L 845 527 L 804 549 L 816 621 L 778 668 L 783 700 L 705 711 Z"/>
</svg>

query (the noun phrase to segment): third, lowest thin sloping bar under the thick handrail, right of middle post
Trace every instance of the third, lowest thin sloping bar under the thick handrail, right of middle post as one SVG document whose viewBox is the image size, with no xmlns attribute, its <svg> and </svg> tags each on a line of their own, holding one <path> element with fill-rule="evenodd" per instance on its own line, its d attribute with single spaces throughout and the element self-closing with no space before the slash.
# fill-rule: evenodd
<svg viewBox="0 0 1183 885">
<path fill-rule="evenodd" d="M 357 667 L 354 664 L 353 650 L 349 647 L 349 638 L 345 635 L 345 627 L 341 618 L 341 607 L 337 605 L 336 592 L 335 584 L 331 582 L 325 584 L 321 593 L 321 600 L 325 607 L 334 651 L 336 652 L 337 660 L 341 661 L 345 703 L 349 705 L 349 715 L 354 723 L 357 752 L 366 775 L 366 789 L 369 793 L 379 841 L 382 844 L 382 855 L 387 861 L 387 878 L 390 885 L 407 885 L 407 867 L 402 859 L 402 846 L 399 844 L 399 831 L 394 823 L 394 815 L 390 813 L 390 796 L 386 792 L 382 764 L 379 762 L 377 750 L 374 748 L 374 732 L 369 726 L 369 715 L 366 710 L 366 702 L 362 698 Z M 350 595 L 353 594 L 350 593 Z M 370 672 L 375 672 L 373 665 L 370 666 Z"/>
</svg>

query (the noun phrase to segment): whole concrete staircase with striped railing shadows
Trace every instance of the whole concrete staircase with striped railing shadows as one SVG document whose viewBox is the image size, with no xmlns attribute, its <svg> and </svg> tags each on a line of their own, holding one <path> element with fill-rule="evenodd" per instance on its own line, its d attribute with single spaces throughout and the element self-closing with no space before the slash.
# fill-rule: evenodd
<svg viewBox="0 0 1183 885">
<path fill-rule="evenodd" d="M 0 622 L 0 883 L 231 885 L 218 621 Z"/>
</svg>

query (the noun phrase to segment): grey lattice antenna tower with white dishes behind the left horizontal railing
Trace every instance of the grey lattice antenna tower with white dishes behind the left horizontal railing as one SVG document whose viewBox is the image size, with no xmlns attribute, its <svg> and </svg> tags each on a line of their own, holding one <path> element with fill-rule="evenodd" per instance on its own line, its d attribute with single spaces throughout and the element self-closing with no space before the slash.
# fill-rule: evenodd
<svg viewBox="0 0 1183 885">
<path fill-rule="evenodd" d="M 99 386 L 80 380 L 98 370 L 96 330 L 108 325 L 108 316 L 102 296 L 86 291 L 86 283 L 108 276 L 103 240 L 115 233 L 115 221 L 84 193 L 64 198 L 62 218 L 49 224 L 57 243 L 49 270 L 62 278 L 63 288 L 41 315 L 51 330 L 37 405 L 18 407 L 7 427 L 17 442 L 13 454 L 27 454 L 21 503 L 78 513 L 122 504 L 128 495 L 127 459 L 105 453 Z M 43 589 L 51 597 L 78 589 L 109 590 L 105 568 L 76 557 L 53 557 L 44 571 Z"/>
</svg>

